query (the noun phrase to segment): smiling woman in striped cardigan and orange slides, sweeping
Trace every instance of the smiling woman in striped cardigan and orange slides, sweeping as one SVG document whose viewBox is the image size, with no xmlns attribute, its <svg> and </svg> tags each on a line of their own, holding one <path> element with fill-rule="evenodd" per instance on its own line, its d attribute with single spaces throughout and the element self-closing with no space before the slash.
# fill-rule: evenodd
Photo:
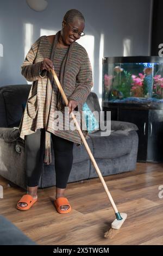
<svg viewBox="0 0 163 256">
<path fill-rule="evenodd" d="M 64 115 L 65 104 L 50 72 L 54 69 L 68 99 L 69 113 L 78 110 L 81 114 L 83 103 L 92 87 L 90 60 L 84 47 L 76 40 L 84 35 L 85 20 L 80 11 L 67 11 L 62 29 L 55 35 L 41 36 L 30 48 L 24 63 L 22 75 L 33 81 L 20 124 L 20 137 L 26 139 L 27 194 L 17 204 L 17 209 L 28 210 L 37 200 L 40 179 L 39 162 L 52 162 L 51 138 L 55 154 L 56 195 L 54 204 L 59 213 L 70 212 L 71 206 L 64 196 L 68 176 L 73 162 L 73 144 L 81 144 L 77 130 L 56 129 L 56 111 Z M 65 117 L 65 115 L 64 115 Z M 66 120 L 66 118 L 65 118 Z M 68 122 L 71 121 L 68 115 Z M 66 121 L 65 121 L 66 122 Z M 34 137 L 41 132 L 40 139 Z M 40 138 L 39 136 L 37 136 Z M 40 144 L 39 144 L 40 143 Z M 39 151 L 36 150 L 39 144 Z"/>
</svg>

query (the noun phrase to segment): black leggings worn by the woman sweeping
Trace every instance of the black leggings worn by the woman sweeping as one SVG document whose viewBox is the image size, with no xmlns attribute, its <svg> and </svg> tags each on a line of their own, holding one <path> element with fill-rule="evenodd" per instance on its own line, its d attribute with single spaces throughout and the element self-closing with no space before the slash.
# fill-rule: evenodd
<svg viewBox="0 0 163 256">
<path fill-rule="evenodd" d="M 41 134 L 40 134 L 41 133 Z M 56 187 L 66 188 L 73 162 L 73 142 L 51 133 L 55 159 Z M 25 136 L 27 186 L 39 184 L 45 154 L 45 129 Z"/>
</svg>

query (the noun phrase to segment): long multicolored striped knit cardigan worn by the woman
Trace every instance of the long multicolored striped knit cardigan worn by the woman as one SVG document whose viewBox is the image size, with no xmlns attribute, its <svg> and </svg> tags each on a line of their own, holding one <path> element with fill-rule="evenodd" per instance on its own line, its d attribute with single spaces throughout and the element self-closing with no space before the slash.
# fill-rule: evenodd
<svg viewBox="0 0 163 256">
<path fill-rule="evenodd" d="M 45 58 L 51 58 L 51 51 L 52 44 L 48 41 L 47 36 L 41 36 L 32 45 L 22 64 L 22 75 L 33 84 L 19 126 L 20 137 L 24 139 L 24 136 L 36 132 L 37 129 L 45 128 L 46 133 L 52 132 L 56 136 L 81 144 L 82 141 L 77 130 L 56 130 L 54 128 L 54 112 L 58 110 L 58 106 L 60 106 L 59 110 L 63 109 L 64 104 L 61 97 L 58 97 L 59 93 L 55 82 L 52 83 L 49 80 L 48 72 L 45 72 L 44 75 L 40 73 L 41 62 Z M 64 67 L 64 79 L 60 82 L 63 83 L 61 85 L 67 99 L 78 102 L 78 111 L 82 117 L 82 107 L 92 87 L 92 70 L 85 48 L 77 42 L 73 42 L 71 45 L 71 52 Z M 47 103 L 47 88 L 49 86 L 52 87 L 50 106 Z M 60 119 L 58 120 L 60 121 Z M 69 117 L 66 123 L 67 121 L 70 123 L 72 120 Z M 86 132 L 83 132 L 86 136 Z M 45 158 L 47 164 L 52 162 L 50 157 L 48 160 L 47 156 Z"/>
</svg>

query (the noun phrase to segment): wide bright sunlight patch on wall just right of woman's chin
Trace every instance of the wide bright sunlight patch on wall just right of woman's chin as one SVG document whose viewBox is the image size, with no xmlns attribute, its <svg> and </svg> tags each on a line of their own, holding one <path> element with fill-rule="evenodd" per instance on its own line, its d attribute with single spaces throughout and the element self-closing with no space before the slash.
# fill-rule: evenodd
<svg viewBox="0 0 163 256">
<path fill-rule="evenodd" d="M 82 45 L 87 51 L 91 66 L 92 66 L 92 75 L 94 76 L 94 48 L 95 48 L 95 36 L 85 35 L 81 37 L 77 42 Z"/>
</svg>

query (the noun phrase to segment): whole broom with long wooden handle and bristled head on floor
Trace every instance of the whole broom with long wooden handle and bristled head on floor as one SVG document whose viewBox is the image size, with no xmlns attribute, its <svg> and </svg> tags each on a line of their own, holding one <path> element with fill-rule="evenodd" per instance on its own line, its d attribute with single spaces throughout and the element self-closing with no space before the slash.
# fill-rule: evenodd
<svg viewBox="0 0 163 256">
<path fill-rule="evenodd" d="M 65 95 L 65 93 L 64 93 L 64 90 L 63 90 L 62 87 L 61 87 L 61 84 L 60 84 L 60 82 L 59 82 L 59 80 L 58 80 L 57 74 L 55 73 L 55 71 L 54 71 L 53 69 L 51 69 L 51 72 L 52 72 L 52 74 L 53 74 L 53 77 L 54 77 L 55 82 L 57 83 L 58 89 L 59 89 L 59 91 L 60 91 L 60 93 L 61 93 L 61 95 L 62 95 L 62 97 L 63 97 L 63 99 L 64 99 L 64 101 L 65 101 L 66 106 L 68 106 L 67 97 L 66 97 L 66 95 Z M 78 133 L 79 133 L 80 137 L 82 138 L 82 141 L 83 141 L 83 143 L 84 143 L 84 145 L 85 145 L 86 151 L 87 151 L 87 153 L 88 153 L 89 156 L 90 156 L 90 159 L 91 159 L 91 161 L 92 161 L 92 163 L 93 163 L 93 166 L 94 166 L 95 169 L 96 169 L 96 172 L 97 172 L 97 174 L 98 174 L 98 176 L 99 176 L 99 179 L 100 179 L 101 182 L 102 182 L 102 185 L 103 185 L 103 187 L 104 187 L 104 189 L 105 189 L 105 192 L 106 192 L 106 194 L 107 194 L 107 196 L 108 196 L 108 198 L 109 198 L 109 200 L 110 200 L 110 203 L 111 203 L 111 205 L 112 205 L 112 208 L 113 208 L 114 211 L 115 211 L 116 218 L 115 218 L 114 222 L 111 223 L 111 229 L 110 229 L 109 231 L 106 231 L 106 233 L 105 233 L 105 235 L 104 235 L 105 237 L 110 237 L 110 238 L 112 238 L 112 237 L 116 234 L 116 232 L 115 232 L 114 230 L 118 230 L 118 229 L 121 228 L 123 222 L 124 222 L 124 221 L 126 220 L 126 218 L 127 218 L 127 214 L 124 214 L 124 213 L 121 213 L 121 214 L 120 214 L 120 212 L 118 212 L 118 210 L 117 210 L 117 208 L 116 208 L 116 205 L 115 205 L 115 203 L 114 203 L 114 200 L 112 199 L 112 196 L 111 196 L 111 194 L 110 194 L 110 192 L 109 192 L 109 190 L 108 190 L 108 187 L 106 186 L 106 183 L 105 183 L 105 181 L 104 181 L 104 178 L 103 178 L 103 176 L 102 176 L 102 174 L 101 174 L 101 171 L 99 170 L 99 168 L 98 168 L 98 166 L 97 166 L 97 163 L 96 163 L 96 161 L 95 161 L 95 158 L 93 157 L 93 155 L 92 155 L 92 153 L 91 153 L 91 150 L 90 150 L 90 148 L 89 148 L 89 145 L 88 145 L 87 142 L 86 142 L 86 139 L 85 139 L 85 137 L 84 137 L 84 135 L 83 135 L 83 132 L 82 132 L 82 130 L 80 129 L 80 126 L 79 126 L 79 124 L 78 124 L 78 122 L 77 122 L 77 119 L 76 119 L 76 117 L 75 117 L 75 115 L 74 115 L 73 112 L 71 112 L 71 117 L 72 117 L 72 119 L 73 119 L 73 121 L 74 121 L 74 124 L 75 124 L 76 127 L 77 127 L 77 130 L 78 130 Z"/>
</svg>

